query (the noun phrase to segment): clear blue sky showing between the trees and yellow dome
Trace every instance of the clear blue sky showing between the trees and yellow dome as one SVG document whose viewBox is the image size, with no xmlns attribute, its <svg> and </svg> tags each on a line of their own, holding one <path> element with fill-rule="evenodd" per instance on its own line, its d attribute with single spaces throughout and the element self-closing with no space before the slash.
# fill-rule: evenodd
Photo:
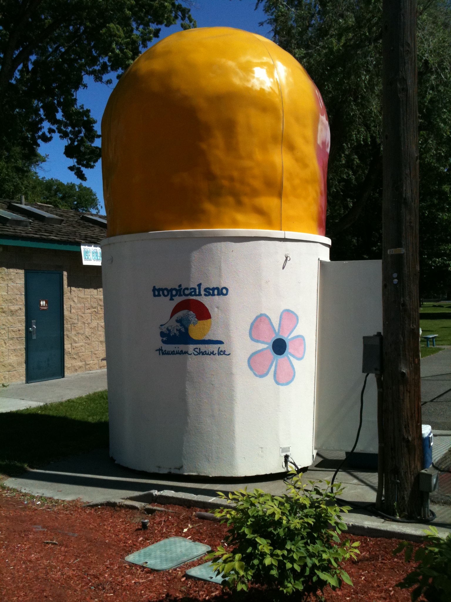
<svg viewBox="0 0 451 602">
<path fill-rule="evenodd" d="M 259 33 L 262 36 L 270 37 L 269 26 L 259 26 L 259 23 L 265 19 L 262 7 L 255 9 L 256 0 L 195 0 L 191 13 L 197 20 L 198 27 L 213 27 L 227 26 L 236 27 L 239 29 L 247 29 L 254 33 Z M 173 25 L 168 28 L 162 28 L 159 39 L 170 36 L 175 31 L 180 31 L 180 25 Z M 113 76 L 114 78 L 114 76 Z M 88 87 L 86 90 L 81 90 L 78 93 L 79 104 L 84 104 L 90 108 L 92 116 L 97 119 L 97 129 L 100 131 L 100 121 L 102 120 L 103 110 L 105 109 L 106 101 L 111 94 L 114 84 L 106 86 L 105 84 L 96 84 L 87 79 Z M 64 140 L 55 137 L 48 144 L 41 144 L 40 152 L 43 155 L 48 155 L 48 160 L 40 169 L 40 176 L 45 178 L 58 178 L 63 182 L 76 182 L 72 172 L 69 172 L 67 167 L 72 164 L 72 161 L 64 157 Z M 100 144 L 100 140 L 99 140 Z M 93 188 L 96 191 L 101 203 L 101 213 L 104 213 L 103 191 L 102 191 L 102 166 L 100 161 L 94 169 L 85 171 L 87 182 L 84 184 Z"/>
</svg>

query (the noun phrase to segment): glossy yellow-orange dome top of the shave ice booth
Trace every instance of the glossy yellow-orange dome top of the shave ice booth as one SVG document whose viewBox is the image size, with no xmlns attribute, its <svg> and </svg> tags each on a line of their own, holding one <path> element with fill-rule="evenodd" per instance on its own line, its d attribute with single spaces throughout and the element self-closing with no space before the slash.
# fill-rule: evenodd
<svg viewBox="0 0 451 602">
<path fill-rule="evenodd" d="M 262 36 L 212 27 L 144 52 L 102 118 L 108 235 L 325 233 L 330 134 L 318 88 Z"/>
</svg>

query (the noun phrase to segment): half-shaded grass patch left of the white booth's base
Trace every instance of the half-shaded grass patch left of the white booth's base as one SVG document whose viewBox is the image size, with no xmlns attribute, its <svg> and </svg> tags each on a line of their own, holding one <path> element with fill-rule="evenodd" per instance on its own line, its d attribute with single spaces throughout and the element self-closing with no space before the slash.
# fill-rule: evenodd
<svg viewBox="0 0 451 602">
<path fill-rule="evenodd" d="M 0 474 L 108 447 L 108 392 L 0 414 Z"/>
</svg>

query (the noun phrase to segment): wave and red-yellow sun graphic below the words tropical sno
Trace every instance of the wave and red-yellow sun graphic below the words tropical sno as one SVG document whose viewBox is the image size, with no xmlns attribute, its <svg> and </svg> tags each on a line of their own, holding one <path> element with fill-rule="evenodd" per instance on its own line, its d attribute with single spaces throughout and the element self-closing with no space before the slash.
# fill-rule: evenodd
<svg viewBox="0 0 451 602">
<path fill-rule="evenodd" d="M 160 326 L 164 345 L 223 345 L 224 341 L 205 338 L 212 326 L 212 316 L 198 299 L 177 303 L 169 320 Z"/>
</svg>

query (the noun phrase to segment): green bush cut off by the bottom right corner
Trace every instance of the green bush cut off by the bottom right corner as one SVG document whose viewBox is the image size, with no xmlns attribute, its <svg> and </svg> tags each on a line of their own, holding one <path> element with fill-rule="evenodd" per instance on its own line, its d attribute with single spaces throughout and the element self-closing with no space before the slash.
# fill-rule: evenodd
<svg viewBox="0 0 451 602">
<path fill-rule="evenodd" d="M 415 562 L 419 565 L 396 586 L 410 589 L 416 586 L 411 594 L 413 602 L 420 595 L 429 602 L 449 602 L 451 600 L 451 533 L 446 539 L 438 536 L 435 527 L 429 527 L 427 542 L 415 553 Z M 413 553 L 413 545 L 402 541 L 393 554 L 399 554 L 405 548 L 405 561 L 409 562 Z"/>
</svg>

